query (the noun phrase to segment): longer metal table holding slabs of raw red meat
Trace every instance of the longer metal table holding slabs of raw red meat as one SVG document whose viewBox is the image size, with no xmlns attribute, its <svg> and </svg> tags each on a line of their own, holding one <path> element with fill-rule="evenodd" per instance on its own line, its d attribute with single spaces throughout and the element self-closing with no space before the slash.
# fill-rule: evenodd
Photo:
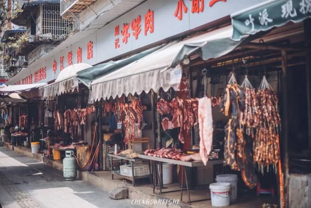
<svg viewBox="0 0 311 208">
<path fill-rule="evenodd" d="M 191 200 L 190 200 L 190 189 L 188 186 L 188 179 L 187 179 L 187 172 L 186 172 L 186 167 L 190 167 L 190 168 L 197 168 L 197 167 L 203 167 L 204 164 L 202 161 L 181 161 L 181 160 L 173 160 L 173 159 L 169 159 L 169 158 L 161 158 L 161 157 L 155 157 L 155 156 L 149 156 L 149 155 L 144 155 L 144 154 L 138 154 L 139 158 L 142 159 L 147 159 L 150 161 L 154 161 L 153 163 L 153 192 L 155 194 L 160 194 L 162 195 L 163 193 L 170 193 L 170 192 L 176 192 L 176 191 L 181 191 L 181 196 L 180 196 L 180 201 L 183 201 L 183 190 L 184 190 L 184 175 L 186 178 L 186 187 L 187 189 L 187 193 L 188 193 L 188 202 L 187 204 L 191 205 Z M 213 159 L 213 160 L 209 160 L 208 163 L 213 163 L 214 164 L 219 164 L 219 162 L 222 163 L 222 159 Z M 158 164 L 162 165 L 162 163 L 171 163 L 174 165 L 180 165 L 182 166 L 183 170 L 181 172 L 181 189 L 180 190 L 170 190 L 170 191 L 162 191 L 162 187 L 163 187 L 163 175 L 162 173 L 160 173 L 160 171 L 158 170 Z M 159 189 L 160 189 L 160 193 L 156 193 L 155 192 L 155 186 L 156 186 L 156 178 L 159 181 Z M 208 199 L 201 199 L 201 200 L 196 200 L 196 201 L 192 201 L 192 202 L 199 202 L 199 201 L 206 201 L 206 200 L 210 200 L 210 198 Z"/>
</svg>

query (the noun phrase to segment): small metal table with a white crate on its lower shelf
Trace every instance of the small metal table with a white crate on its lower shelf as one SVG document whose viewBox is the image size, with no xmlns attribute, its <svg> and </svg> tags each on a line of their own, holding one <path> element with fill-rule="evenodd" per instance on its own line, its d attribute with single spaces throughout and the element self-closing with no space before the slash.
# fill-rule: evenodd
<svg viewBox="0 0 311 208">
<path fill-rule="evenodd" d="M 149 161 L 148 161 L 149 175 L 135 176 L 135 174 L 134 174 L 134 164 L 135 164 L 135 162 L 142 161 L 143 159 L 141 159 L 141 158 L 128 158 L 128 157 L 125 157 L 125 156 L 109 154 L 109 153 L 108 153 L 108 156 L 110 157 L 111 178 L 112 178 L 112 180 L 113 180 L 113 176 L 114 175 L 118 175 L 118 176 L 120 176 L 122 178 L 126 178 L 128 180 L 131 180 L 132 184 L 133 184 L 133 187 L 135 187 L 135 179 L 150 177 L 150 180 L 152 180 L 152 177 L 151 177 L 151 174 L 150 174 L 151 173 L 151 167 L 150 167 L 150 162 Z M 131 167 L 132 167 L 132 177 L 121 175 L 120 170 L 119 171 L 118 170 L 113 170 L 113 158 L 118 158 L 118 159 L 126 160 L 126 161 L 130 162 L 131 163 Z"/>
</svg>

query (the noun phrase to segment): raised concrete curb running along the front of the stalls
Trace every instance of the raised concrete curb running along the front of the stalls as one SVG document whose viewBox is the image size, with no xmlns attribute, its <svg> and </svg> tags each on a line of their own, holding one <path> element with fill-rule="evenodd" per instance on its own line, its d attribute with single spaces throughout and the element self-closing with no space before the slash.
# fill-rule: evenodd
<svg viewBox="0 0 311 208">
<path fill-rule="evenodd" d="M 46 157 L 42 157 L 40 153 L 37 154 L 33 154 L 30 151 L 26 151 L 24 148 L 20 148 L 20 147 L 16 147 L 13 146 L 7 142 L 3 143 L 3 146 L 6 147 L 7 149 L 11 150 L 11 151 L 15 151 L 17 153 L 23 154 L 27 157 L 31 157 L 39 162 L 43 162 L 49 166 L 52 166 L 53 168 L 57 169 L 57 170 L 63 170 L 63 164 L 59 163 L 59 162 L 55 162 L 53 160 L 50 160 Z M 78 179 L 89 183 L 93 186 L 99 187 L 105 191 L 110 191 L 114 188 L 117 187 L 122 187 L 122 188 L 126 188 L 128 189 L 128 198 L 132 199 L 132 200 L 139 200 L 139 199 L 144 199 L 144 200 L 166 200 L 167 198 L 165 198 L 164 196 L 161 195 L 157 195 L 157 194 L 150 194 L 150 193 L 146 193 L 143 190 L 139 189 L 139 187 L 132 187 L 132 185 L 124 183 L 122 181 L 119 180 L 112 180 L 112 179 L 108 179 L 108 178 L 103 178 L 100 177 L 96 174 L 96 172 L 88 172 L 88 171 L 79 171 L 78 170 Z M 151 189 L 151 188 L 150 188 Z M 190 208 L 191 206 L 180 203 L 178 205 L 151 205 L 148 206 L 151 208 Z"/>
</svg>

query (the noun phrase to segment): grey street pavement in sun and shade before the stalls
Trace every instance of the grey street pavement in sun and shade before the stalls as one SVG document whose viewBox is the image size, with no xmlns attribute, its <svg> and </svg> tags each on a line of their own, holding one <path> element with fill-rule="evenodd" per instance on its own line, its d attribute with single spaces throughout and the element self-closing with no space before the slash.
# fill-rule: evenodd
<svg viewBox="0 0 311 208">
<path fill-rule="evenodd" d="M 138 207 L 112 200 L 108 192 L 83 181 L 65 181 L 62 171 L 0 148 L 0 203 L 3 208 Z"/>
</svg>

